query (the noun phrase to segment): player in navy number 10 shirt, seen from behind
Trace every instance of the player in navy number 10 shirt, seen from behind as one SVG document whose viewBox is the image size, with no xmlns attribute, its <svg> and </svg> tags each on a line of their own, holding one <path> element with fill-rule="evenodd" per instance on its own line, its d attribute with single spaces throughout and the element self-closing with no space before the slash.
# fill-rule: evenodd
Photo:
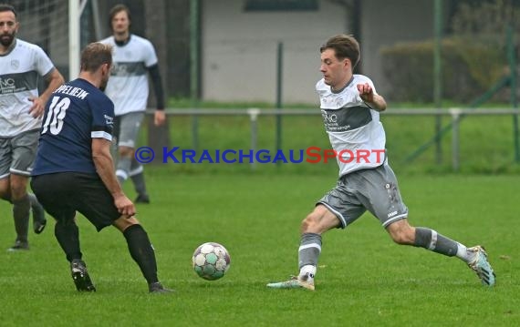
<svg viewBox="0 0 520 327">
<path fill-rule="evenodd" d="M 96 289 L 82 261 L 77 211 L 97 230 L 109 225 L 120 230 L 149 291 L 167 292 L 158 280 L 148 235 L 114 173 L 110 155 L 114 105 L 102 92 L 109 80 L 111 50 L 101 43 L 88 45 L 81 54 L 78 79 L 57 87 L 47 102 L 31 187 L 56 220 L 55 235 L 78 291 Z"/>
</svg>

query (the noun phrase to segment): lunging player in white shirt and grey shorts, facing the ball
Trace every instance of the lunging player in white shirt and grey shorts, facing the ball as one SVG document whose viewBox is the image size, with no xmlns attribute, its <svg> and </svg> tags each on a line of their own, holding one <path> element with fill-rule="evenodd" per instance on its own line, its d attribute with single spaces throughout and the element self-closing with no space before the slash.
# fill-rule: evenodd
<svg viewBox="0 0 520 327">
<path fill-rule="evenodd" d="M 358 41 L 352 36 L 332 36 L 321 46 L 320 53 L 323 78 L 316 89 L 321 112 L 332 148 L 344 154 L 338 156 L 338 184 L 317 201 L 316 208 L 302 221 L 298 276 L 267 286 L 314 290 L 322 234 L 346 228 L 366 210 L 380 220 L 396 243 L 456 256 L 476 271 L 484 285 L 493 286 L 494 271 L 483 247 L 466 248 L 435 230 L 410 225 L 408 208 L 400 198 L 388 159 L 377 155 L 385 148 L 380 111 L 386 109 L 386 101 L 368 77 L 353 74 L 360 56 Z M 342 151 L 347 149 L 350 151 Z M 366 151 L 375 155 L 349 156 Z"/>
</svg>

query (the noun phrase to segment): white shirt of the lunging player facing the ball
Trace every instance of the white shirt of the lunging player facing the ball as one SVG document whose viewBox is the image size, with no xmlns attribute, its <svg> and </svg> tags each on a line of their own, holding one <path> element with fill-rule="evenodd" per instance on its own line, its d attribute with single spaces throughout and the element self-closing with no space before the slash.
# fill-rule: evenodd
<svg viewBox="0 0 520 327">
<path fill-rule="evenodd" d="M 364 83 L 369 83 L 377 94 L 372 81 L 363 75 L 354 75 L 338 92 L 332 92 L 323 78 L 316 84 L 325 129 L 338 154 L 339 176 L 378 167 L 386 158 L 380 113 L 359 97 L 357 85 Z"/>
</svg>

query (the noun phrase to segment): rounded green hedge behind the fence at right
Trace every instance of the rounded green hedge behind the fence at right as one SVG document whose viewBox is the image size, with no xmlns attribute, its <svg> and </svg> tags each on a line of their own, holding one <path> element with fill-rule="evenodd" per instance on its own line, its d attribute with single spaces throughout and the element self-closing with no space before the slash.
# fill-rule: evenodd
<svg viewBox="0 0 520 327">
<path fill-rule="evenodd" d="M 382 69 L 393 101 L 432 102 L 433 42 L 400 43 L 381 49 Z M 442 97 L 470 102 L 504 77 L 503 50 L 462 37 L 442 40 Z"/>
</svg>

